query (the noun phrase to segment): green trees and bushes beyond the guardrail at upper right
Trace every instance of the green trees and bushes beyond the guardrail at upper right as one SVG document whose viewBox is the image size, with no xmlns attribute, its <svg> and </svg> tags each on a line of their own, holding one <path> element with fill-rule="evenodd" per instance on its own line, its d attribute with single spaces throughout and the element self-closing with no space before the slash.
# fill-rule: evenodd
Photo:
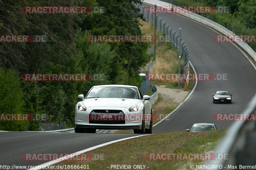
<svg viewBox="0 0 256 170">
<path fill-rule="evenodd" d="M 169 2 L 170 0 L 164 0 Z M 225 26 L 236 35 L 256 35 L 256 1 L 255 0 L 175 0 L 175 5 L 227 6 L 230 13 L 202 13 L 222 26 Z M 255 42 L 248 42 L 255 51 Z"/>
</svg>

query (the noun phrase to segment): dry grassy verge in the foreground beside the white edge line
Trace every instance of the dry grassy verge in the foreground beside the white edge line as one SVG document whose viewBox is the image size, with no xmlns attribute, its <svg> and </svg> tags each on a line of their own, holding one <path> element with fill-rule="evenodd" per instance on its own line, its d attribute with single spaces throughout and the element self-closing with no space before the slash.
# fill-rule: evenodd
<svg viewBox="0 0 256 170">
<path fill-rule="evenodd" d="M 202 160 L 148 160 L 149 153 L 207 153 L 226 133 L 225 129 L 206 132 L 171 132 L 133 138 L 95 149 L 90 154 L 104 154 L 104 160 L 65 160 L 57 165 L 88 165 L 90 169 L 110 169 L 111 165 L 145 165 L 145 169 L 190 169 Z M 56 165 L 55 165 L 56 166 Z M 109 167 L 109 168 L 108 168 Z M 149 168 L 147 168 L 149 167 Z M 131 168 L 133 169 L 133 168 Z"/>
</svg>

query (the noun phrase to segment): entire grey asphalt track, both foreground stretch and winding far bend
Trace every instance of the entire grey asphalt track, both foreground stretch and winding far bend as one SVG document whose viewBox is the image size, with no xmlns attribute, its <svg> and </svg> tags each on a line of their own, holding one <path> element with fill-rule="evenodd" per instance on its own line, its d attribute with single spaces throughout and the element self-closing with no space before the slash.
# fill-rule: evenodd
<svg viewBox="0 0 256 170">
<path fill-rule="evenodd" d="M 186 41 L 197 73 L 227 74 L 227 80 L 198 81 L 190 98 L 170 120 L 153 128 L 153 133 L 185 131 L 195 122 L 213 122 L 217 127 L 230 122 L 214 121 L 216 113 L 241 113 L 256 92 L 256 70 L 231 43 L 214 42 L 214 31 L 175 14 L 159 14 Z M 232 104 L 213 104 L 212 93 L 228 90 Z M 24 153 L 74 153 L 91 146 L 134 134 L 0 133 L 0 165 L 39 165 L 45 161 L 24 161 Z"/>
</svg>

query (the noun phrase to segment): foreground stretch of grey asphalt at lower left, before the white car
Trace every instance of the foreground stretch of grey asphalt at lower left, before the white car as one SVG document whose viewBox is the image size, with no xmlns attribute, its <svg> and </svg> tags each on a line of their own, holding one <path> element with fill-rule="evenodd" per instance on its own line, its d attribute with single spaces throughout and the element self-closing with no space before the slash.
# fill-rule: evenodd
<svg viewBox="0 0 256 170">
<path fill-rule="evenodd" d="M 0 132 L 0 165 L 36 166 L 48 161 L 23 160 L 26 153 L 70 154 L 138 134 Z M 2 168 L 1 168 L 2 169 Z"/>
</svg>

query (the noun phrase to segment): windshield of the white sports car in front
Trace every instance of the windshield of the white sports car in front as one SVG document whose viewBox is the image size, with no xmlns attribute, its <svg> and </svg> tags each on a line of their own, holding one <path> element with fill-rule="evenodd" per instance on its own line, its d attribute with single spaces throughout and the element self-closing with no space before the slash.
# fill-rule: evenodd
<svg viewBox="0 0 256 170">
<path fill-rule="evenodd" d="M 133 87 L 93 87 L 88 98 L 127 98 L 139 99 L 136 88 Z"/>
</svg>

